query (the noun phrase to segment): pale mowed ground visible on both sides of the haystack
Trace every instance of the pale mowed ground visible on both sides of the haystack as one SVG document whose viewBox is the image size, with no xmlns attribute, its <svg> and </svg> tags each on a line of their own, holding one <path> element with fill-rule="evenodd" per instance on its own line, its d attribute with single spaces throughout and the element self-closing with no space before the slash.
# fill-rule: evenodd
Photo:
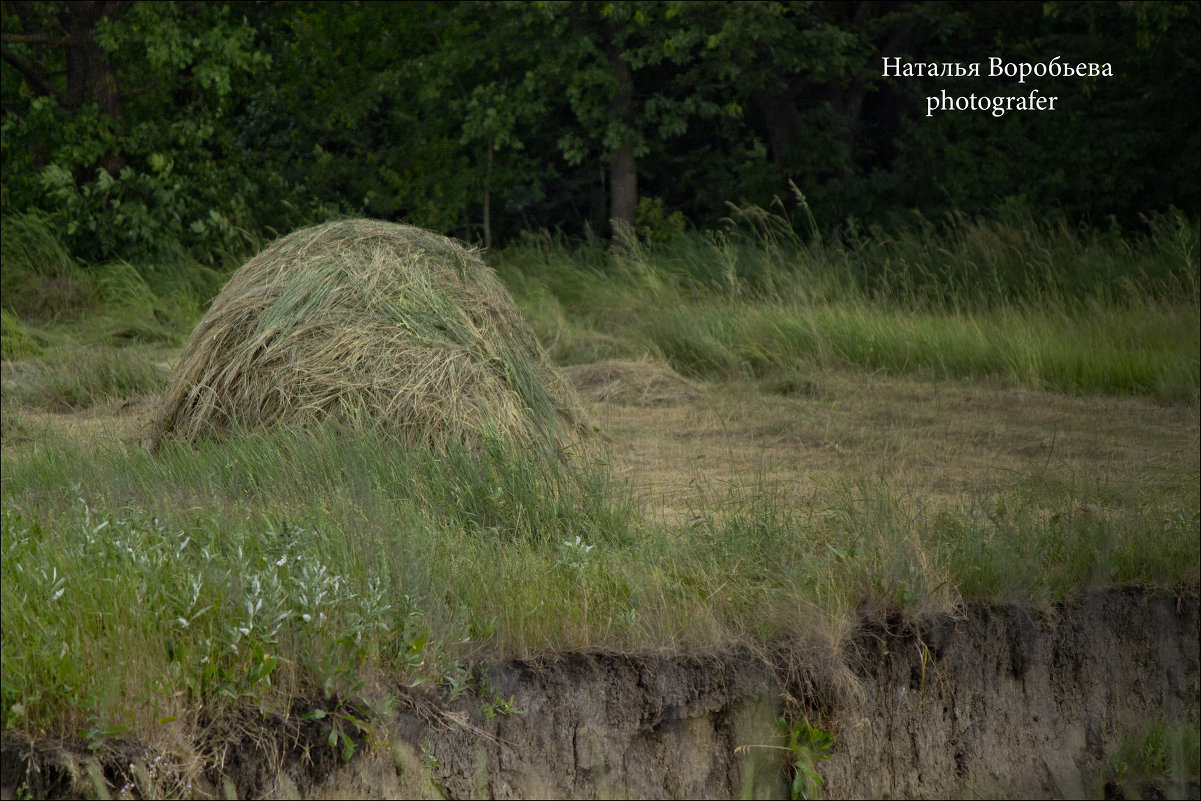
<svg viewBox="0 0 1201 801">
<path fill-rule="evenodd" d="M 175 355 L 154 353 L 165 371 Z M 6 365 L 5 373 L 19 385 L 22 367 Z M 735 490 L 770 490 L 819 514 L 855 484 L 886 486 L 928 508 L 1016 488 L 1041 488 L 1050 500 L 1075 488 L 1086 510 L 1089 498 L 1173 497 L 1201 471 L 1191 404 L 852 370 L 800 382 L 706 382 L 649 359 L 566 373 L 615 477 L 647 515 L 673 521 Z M 137 447 L 153 402 L 136 395 L 79 411 L 26 407 L 18 412 L 23 432 L 5 448 L 20 458 L 67 442 Z"/>
</svg>

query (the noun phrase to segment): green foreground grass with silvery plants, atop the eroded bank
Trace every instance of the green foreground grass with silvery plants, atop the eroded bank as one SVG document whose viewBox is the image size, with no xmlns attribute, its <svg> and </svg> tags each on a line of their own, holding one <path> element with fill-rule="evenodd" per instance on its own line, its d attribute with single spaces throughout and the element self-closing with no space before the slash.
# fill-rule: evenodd
<svg viewBox="0 0 1201 801">
<path fill-rule="evenodd" d="M 1195 591 L 1201 558 L 1195 480 L 931 512 L 868 480 L 801 509 L 754 479 L 665 522 L 602 466 L 498 443 L 435 458 L 348 430 L 155 455 L 47 441 L 2 466 L 6 725 L 71 735 L 381 676 L 450 686 L 485 657 L 836 648 L 861 615 L 961 598 Z"/>
</svg>

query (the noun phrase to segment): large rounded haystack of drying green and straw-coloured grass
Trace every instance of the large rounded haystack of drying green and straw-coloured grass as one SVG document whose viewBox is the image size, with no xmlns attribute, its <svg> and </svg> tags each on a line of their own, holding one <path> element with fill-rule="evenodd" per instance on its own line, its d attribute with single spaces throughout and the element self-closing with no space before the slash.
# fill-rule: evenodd
<svg viewBox="0 0 1201 801">
<path fill-rule="evenodd" d="M 375 220 L 298 231 L 234 273 L 184 348 L 150 438 L 327 419 L 438 448 L 485 432 L 562 448 L 587 430 L 474 252 Z"/>
</svg>

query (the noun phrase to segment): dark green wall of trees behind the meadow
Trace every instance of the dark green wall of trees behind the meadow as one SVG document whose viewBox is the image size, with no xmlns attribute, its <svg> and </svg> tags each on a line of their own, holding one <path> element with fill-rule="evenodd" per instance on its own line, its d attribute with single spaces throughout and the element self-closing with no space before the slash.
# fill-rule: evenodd
<svg viewBox="0 0 1201 801">
<path fill-rule="evenodd" d="M 334 214 L 506 241 L 794 203 L 827 228 L 1196 215 L 1196 4 L 7 2 L 4 214 L 204 259 Z M 885 77 L 1110 62 L 1112 78 Z M 1017 95 L 1053 113 L 926 114 Z M 643 201 L 640 203 L 640 201 Z"/>
</svg>

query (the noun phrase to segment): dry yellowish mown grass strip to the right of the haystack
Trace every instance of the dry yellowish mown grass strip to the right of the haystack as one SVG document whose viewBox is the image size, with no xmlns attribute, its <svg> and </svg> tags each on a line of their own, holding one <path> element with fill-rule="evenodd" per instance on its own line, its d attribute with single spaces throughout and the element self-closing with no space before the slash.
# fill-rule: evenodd
<svg viewBox="0 0 1201 801">
<path fill-rule="evenodd" d="M 784 396 L 693 385 L 697 397 L 675 404 L 590 405 L 620 473 L 668 518 L 727 485 L 767 483 L 791 506 L 821 508 L 838 483 L 871 479 L 954 504 L 1018 482 L 1163 489 L 1201 470 L 1193 405 L 850 371 Z"/>
</svg>

